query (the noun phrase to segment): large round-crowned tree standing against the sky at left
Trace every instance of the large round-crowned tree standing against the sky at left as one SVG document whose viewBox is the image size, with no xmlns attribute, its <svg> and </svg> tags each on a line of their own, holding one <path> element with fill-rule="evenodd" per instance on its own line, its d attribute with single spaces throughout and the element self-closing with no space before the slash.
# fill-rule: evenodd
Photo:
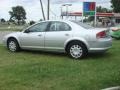
<svg viewBox="0 0 120 90">
<path fill-rule="evenodd" d="M 26 19 L 26 12 L 22 6 L 12 7 L 12 11 L 9 11 L 9 14 L 10 21 L 17 21 L 18 25 Z"/>
</svg>

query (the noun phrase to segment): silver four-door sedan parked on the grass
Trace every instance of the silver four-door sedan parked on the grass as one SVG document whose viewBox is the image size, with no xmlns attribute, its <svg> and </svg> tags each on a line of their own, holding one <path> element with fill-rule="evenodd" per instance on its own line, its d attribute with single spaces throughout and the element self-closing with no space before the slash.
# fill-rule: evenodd
<svg viewBox="0 0 120 90">
<path fill-rule="evenodd" d="M 112 46 L 112 38 L 109 30 L 79 21 L 48 20 L 6 35 L 3 43 L 12 52 L 21 49 L 54 51 L 80 59 L 91 52 L 107 51 Z"/>
</svg>

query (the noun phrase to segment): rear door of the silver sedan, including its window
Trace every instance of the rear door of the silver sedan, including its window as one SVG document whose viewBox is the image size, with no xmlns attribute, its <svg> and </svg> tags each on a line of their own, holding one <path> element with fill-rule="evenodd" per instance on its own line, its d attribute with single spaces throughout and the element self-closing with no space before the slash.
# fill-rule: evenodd
<svg viewBox="0 0 120 90">
<path fill-rule="evenodd" d="M 64 50 L 64 43 L 70 37 L 72 31 L 67 23 L 52 21 L 45 34 L 45 49 Z"/>
</svg>

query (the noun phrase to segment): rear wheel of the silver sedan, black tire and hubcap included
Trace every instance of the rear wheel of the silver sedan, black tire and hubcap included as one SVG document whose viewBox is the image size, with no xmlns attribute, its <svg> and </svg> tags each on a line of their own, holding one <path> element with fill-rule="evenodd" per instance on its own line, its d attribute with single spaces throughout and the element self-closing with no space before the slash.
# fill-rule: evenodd
<svg viewBox="0 0 120 90">
<path fill-rule="evenodd" d="M 74 59 L 81 59 L 88 54 L 88 50 L 83 43 L 74 41 L 68 45 L 67 53 Z"/>
</svg>

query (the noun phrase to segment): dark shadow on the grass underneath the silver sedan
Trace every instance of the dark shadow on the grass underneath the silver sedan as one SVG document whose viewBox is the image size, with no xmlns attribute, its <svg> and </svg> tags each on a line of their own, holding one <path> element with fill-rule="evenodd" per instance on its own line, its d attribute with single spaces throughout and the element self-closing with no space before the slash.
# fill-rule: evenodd
<svg viewBox="0 0 120 90">
<path fill-rule="evenodd" d="M 32 50 L 22 50 L 22 52 L 25 53 L 30 53 L 33 55 L 49 55 L 49 56 L 53 56 L 53 57 L 66 57 L 69 59 L 72 59 L 71 57 L 69 57 L 69 55 L 67 53 L 62 53 L 62 52 L 49 52 L 49 51 L 32 51 Z M 89 53 L 86 57 L 82 58 L 81 60 L 91 60 L 91 59 L 104 59 L 104 58 L 108 58 L 111 56 L 110 52 L 104 52 L 104 53 Z M 72 59 L 74 60 L 74 59 Z"/>
</svg>

